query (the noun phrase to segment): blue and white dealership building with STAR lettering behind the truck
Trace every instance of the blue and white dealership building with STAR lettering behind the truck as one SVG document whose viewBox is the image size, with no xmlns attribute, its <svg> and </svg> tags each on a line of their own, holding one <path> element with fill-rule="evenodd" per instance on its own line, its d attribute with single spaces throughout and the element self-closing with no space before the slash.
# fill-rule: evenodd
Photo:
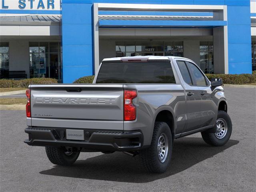
<svg viewBox="0 0 256 192">
<path fill-rule="evenodd" d="M 256 0 L 0 0 L 0 78 L 92 75 L 103 58 L 182 56 L 256 70 Z"/>
</svg>

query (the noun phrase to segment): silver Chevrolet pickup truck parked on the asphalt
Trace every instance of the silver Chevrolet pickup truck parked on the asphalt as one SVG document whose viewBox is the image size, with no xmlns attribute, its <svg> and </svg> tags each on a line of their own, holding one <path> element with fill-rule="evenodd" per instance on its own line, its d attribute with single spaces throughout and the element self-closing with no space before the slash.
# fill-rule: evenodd
<svg viewBox="0 0 256 192">
<path fill-rule="evenodd" d="M 80 152 L 120 151 L 162 173 L 174 138 L 201 132 L 222 146 L 232 132 L 222 80 L 209 81 L 181 57 L 108 58 L 93 84 L 30 85 L 26 95 L 24 142 L 45 146 L 58 165 L 73 164 Z"/>
</svg>

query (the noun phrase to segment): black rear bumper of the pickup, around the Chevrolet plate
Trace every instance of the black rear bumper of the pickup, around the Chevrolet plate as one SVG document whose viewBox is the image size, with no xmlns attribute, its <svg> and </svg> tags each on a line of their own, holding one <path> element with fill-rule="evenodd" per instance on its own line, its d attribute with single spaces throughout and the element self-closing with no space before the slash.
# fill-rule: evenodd
<svg viewBox="0 0 256 192">
<path fill-rule="evenodd" d="M 81 130 L 81 129 L 80 129 Z M 84 130 L 84 140 L 66 140 L 63 128 L 26 128 L 30 146 L 68 146 L 99 151 L 131 151 L 143 147 L 143 135 L 140 131 Z"/>
</svg>

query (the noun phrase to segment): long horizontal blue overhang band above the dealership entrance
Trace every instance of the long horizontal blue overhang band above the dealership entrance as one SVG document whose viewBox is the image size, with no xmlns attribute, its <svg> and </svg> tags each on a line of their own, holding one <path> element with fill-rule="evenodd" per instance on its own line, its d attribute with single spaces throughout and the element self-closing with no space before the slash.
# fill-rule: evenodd
<svg viewBox="0 0 256 192">
<path fill-rule="evenodd" d="M 99 20 L 99 27 L 214 28 L 226 25 L 226 21 L 219 20 Z"/>
</svg>

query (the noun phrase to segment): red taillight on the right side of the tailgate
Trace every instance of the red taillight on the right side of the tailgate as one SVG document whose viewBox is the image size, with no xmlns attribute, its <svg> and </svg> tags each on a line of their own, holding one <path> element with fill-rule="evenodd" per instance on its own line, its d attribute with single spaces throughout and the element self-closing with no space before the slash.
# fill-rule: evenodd
<svg viewBox="0 0 256 192">
<path fill-rule="evenodd" d="M 136 107 L 132 104 L 132 99 L 136 98 L 136 90 L 124 90 L 124 120 L 132 121 L 136 119 Z"/>
</svg>

